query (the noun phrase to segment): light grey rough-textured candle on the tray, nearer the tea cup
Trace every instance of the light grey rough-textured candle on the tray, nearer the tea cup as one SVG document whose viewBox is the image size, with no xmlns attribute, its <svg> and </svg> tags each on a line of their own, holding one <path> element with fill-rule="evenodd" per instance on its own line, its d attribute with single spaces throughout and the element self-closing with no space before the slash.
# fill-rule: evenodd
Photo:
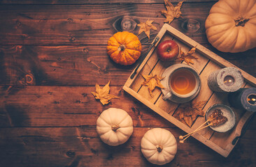
<svg viewBox="0 0 256 167">
<path fill-rule="evenodd" d="M 215 92 L 235 92 L 242 84 L 243 75 L 235 67 L 225 67 L 208 77 L 208 86 Z"/>
</svg>

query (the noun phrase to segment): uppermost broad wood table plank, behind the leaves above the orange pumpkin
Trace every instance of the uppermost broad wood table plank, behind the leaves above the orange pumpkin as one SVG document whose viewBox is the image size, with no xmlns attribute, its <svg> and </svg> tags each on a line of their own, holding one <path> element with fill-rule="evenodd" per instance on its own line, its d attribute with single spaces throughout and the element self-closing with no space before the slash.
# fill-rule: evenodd
<svg viewBox="0 0 256 167">
<path fill-rule="evenodd" d="M 187 19 L 200 24 L 197 32 L 189 33 L 194 40 L 208 43 L 204 33 L 204 21 L 214 2 L 184 3 L 183 17 L 175 19 L 171 26 L 186 33 Z M 130 17 L 137 24 L 154 19 L 161 29 L 165 17 L 159 11 L 164 3 L 124 5 L 1 5 L 0 45 L 106 45 L 108 38 L 120 29 L 120 20 Z M 113 24 L 116 23 L 115 28 Z M 183 29 L 183 28 L 184 29 Z M 138 26 L 134 31 L 138 34 Z M 151 32 L 151 40 L 158 31 Z M 145 33 L 138 36 L 148 44 Z"/>
</svg>

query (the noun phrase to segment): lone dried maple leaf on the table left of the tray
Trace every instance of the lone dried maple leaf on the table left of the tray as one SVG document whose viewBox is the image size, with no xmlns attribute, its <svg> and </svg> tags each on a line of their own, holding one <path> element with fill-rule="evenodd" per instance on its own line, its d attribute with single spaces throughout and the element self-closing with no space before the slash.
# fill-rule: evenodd
<svg viewBox="0 0 256 167">
<path fill-rule="evenodd" d="M 94 95 L 95 99 L 100 100 L 101 104 L 105 105 L 110 102 L 111 99 L 119 98 L 115 95 L 110 95 L 109 93 L 109 84 L 111 81 L 108 81 L 108 84 L 104 86 L 104 88 L 100 88 L 99 84 L 95 84 L 96 92 L 92 92 L 92 95 Z"/>
</svg>

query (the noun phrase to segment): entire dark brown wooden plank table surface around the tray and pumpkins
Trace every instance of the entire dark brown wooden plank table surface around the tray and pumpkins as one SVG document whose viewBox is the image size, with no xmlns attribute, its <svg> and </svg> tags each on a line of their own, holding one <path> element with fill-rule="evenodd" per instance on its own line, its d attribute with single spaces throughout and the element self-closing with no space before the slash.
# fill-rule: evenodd
<svg viewBox="0 0 256 167">
<path fill-rule="evenodd" d="M 171 0 L 175 5 L 177 0 Z M 204 22 L 215 0 L 187 0 L 183 17 L 171 26 L 256 77 L 256 49 L 229 54 L 207 41 Z M 124 18 L 155 20 L 157 31 L 138 35 L 142 55 L 164 24 L 163 0 L 0 1 L 0 166 L 154 166 L 141 153 L 141 138 L 152 127 L 185 133 L 122 90 L 137 63 L 117 65 L 106 54 L 108 38 L 122 31 Z M 186 20 L 199 30 L 186 29 Z M 103 106 L 92 91 L 111 80 L 120 99 Z M 105 109 L 124 109 L 134 121 L 127 143 L 101 142 L 96 120 Z M 256 118 L 224 158 L 194 138 L 178 143 L 166 166 L 256 166 Z"/>
</svg>

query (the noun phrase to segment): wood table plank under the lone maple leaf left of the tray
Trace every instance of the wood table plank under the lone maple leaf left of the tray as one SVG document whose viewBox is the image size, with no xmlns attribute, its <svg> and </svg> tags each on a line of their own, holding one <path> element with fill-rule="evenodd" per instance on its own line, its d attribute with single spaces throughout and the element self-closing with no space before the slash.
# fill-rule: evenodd
<svg viewBox="0 0 256 167">
<path fill-rule="evenodd" d="M 124 109 L 134 127 L 173 127 L 161 116 L 124 93 L 122 86 L 110 86 L 120 99 L 103 106 L 95 100 L 94 86 L 1 87 L 0 127 L 73 127 L 95 125 L 99 114 L 114 107 Z"/>
</svg>

